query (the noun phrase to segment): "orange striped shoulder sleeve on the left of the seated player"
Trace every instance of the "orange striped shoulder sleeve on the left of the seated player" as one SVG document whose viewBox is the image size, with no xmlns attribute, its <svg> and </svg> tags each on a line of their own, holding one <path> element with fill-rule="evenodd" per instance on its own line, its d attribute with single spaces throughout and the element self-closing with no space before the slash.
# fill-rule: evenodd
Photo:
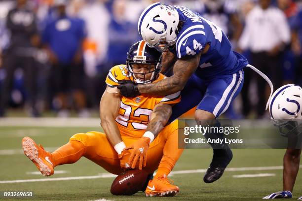
<svg viewBox="0 0 302 201">
<path fill-rule="evenodd" d="M 106 77 L 107 86 L 114 88 L 118 84 L 118 81 L 126 79 L 126 68 L 124 66 L 115 66 L 109 70 Z"/>
</svg>

